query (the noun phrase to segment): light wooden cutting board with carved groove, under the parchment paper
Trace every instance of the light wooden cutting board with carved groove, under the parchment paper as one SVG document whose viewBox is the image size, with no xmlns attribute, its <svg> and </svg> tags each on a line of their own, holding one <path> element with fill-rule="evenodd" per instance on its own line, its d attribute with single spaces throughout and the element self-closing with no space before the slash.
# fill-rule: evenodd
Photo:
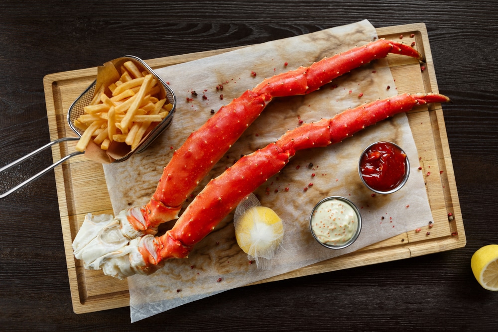
<svg viewBox="0 0 498 332">
<path fill-rule="evenodd" d="M 425 24 L 407 24 L 376 29 L 381 38 L 411 44 L 426 58 L 423 69 L 401 56 L 388 56 L 397 92 L 438 92 Z M 152 68 L 183 63 L 233 49 L 222 49 L 146 61 Z M 76 136 L 66 120 L 71 103 L 97 76 L 97 68 L 88 68 L 47 75 L 43 84 L 52 140 Z M 408 114 L 410 128 L 420 156 L 427 196 L 434 220 L 433 227 L 409 231 L 375 243 L 356 252 L 319 262 L 296 271 L 258 283 L 329 272 L 362 265 L 410 258 L 438 251 L 463 247 L 466 243 L 457 187 L 453 173 L 441 105 L 430 105 L 424 111 Z M 54 161 L 74 152 L 75 142 L 52 147 Z M 75 313 L 94 312 L 129 305 L 126 280 L 105 276 L 102 271 L 88 271 L 75 259 L 71 244 L 85 215 L 113 214 L 101 164 L 77 156 L 55 169 L 59 209 L 66 250 L 66 262 Z M 449 220 L 448 214 L 454 216 Z M 427 232 L 430 232 L 428 235 Z"/>
</svg>

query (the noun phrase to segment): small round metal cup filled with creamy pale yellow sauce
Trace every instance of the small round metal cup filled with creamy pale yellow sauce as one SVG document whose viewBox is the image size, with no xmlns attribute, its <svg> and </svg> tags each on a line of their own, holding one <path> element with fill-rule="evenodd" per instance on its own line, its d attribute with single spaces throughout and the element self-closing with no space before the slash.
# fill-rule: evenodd
<svg viewBox="0 0 498 332">
<path fill-rule="evenodd" d="M 311 234 L 329 249 L 343 249 L 356 241 L 362 230 L 360 211 L 350 200 L 327 197 L 310 214 Z"/>
</svg>

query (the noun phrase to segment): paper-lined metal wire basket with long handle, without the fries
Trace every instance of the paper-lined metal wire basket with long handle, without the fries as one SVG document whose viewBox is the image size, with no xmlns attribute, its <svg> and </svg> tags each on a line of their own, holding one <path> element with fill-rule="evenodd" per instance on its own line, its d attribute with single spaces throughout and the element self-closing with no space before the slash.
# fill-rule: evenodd
<svg viewBox="0 0 498 332">
<path fill-rule="evenodd" d="M 122 161 L 125 161 L 126 159 L 128 159 L 129 157 L 131 157 L 134 153 L 140 153 L 143 150 L 145 150 L 150 145 L 150 143 L 152 143 L 152 141 L 154 139 L 156 139 L 157 136 L 159 136 L 159 134 L 161 134 L 171 124 L 171 121 L 173 121 L 173 114 L 174 114 L 175 109 L 176 109 L 176 96 L 175 96 L 173 90 L 166 84 L 166 82 L 164 82 L 141 59 L 139 59 L 139 58 L 137 58 L 135 56 L 132 56 L 132 55 L 127 55 L 127 56 L 124 56 L 122 58 L 115 59 L 115 60 L 113 60 L 113 62 L 124 63 L 125 61 L 128 61 L 128 60 L 132 60 L 132 61 L 135 62 L 135 64 L 139 64 L 145 71 L 149 72 L 150 74 L 152 74 L 154 76 L 154 78 L 160 83 L 159 86 L 163 88 L 163 89 L 161 89 L 161 92 L 164 95 L 164 97 L 161 96 L 161 98 L 167 98 L 168 102 L 171 103 L 171 105 L 172 105 L 172 109 L 171 109 L 171 111 L 169 111 L 168 115 L 161 122 L 159 122 L 141 140 L 141 142 L 133 150 L 130 150 L 123 157 L 121 157 L 121 158 L 116 159 L 115 161 L 113 161 L 113 162 L 118 162 L 118 163 L 122 162 Z M 80 115 L 82 115 L 84 113 L 85 106 L 89 105 L 90 102 L 92 101 L 92 99 L 94 97 L 94 94 L 95 94 L 95 86 L 96 86 L 96 84 L 97 84 L 97 81 L 94 81 L 80 95 L 80 97 L 78 97 L 73 102 L 73 104 L 69 107 L 69 110 L 67 112 L 67 121 L 68 121 L 69 127 L 78 135 L 78 137 L 63 137 L 63 138 L 56 139 L 56 140 L 54 140 L 54 141 L 52 141 L 50 143 L 47 143 L 44 146 L 42 146 L 42 147 L 34 150 L 33 152 L 31 152 L 31 153 L 29 153 L 29 154 L 27 154 L 27 155 L 25 155 L 25 156 L 23 156 L 23 157 L 15 160 L 15 161 L 13 161 L 13 162 L 11 162 L 10 164 L 7 164 L 7 165 L 3 166 L 2 168 L 0 168 L 0 173 L 6 171 L 7 169 L 9 169 L 9 168 L 11 168 L 11 167 L 13 167 L 15 165 L 18 165 L 18 164 L 22 163 L 23 161 L 31 158 L 32 156 L 38 154 L 39 152 L 45 150 L 46 148 L 48 148 L 48 147 L 50 147 L 50 146 L 52 146 L 54 144 L 61 143 L 61 142 L 64 142 L 64 141 L 79 140 L 79 138 L 81 137 L 81 135 L 83 135 L 84 131 L 74 126 L 74 120 L 77 119 L 78 117 L 80 117 Z M 45 168 L 44 170 L 40 171 L 39 173 L 35 174 L 31 178 L 23 181 L 22 183 L 18 184 L 17 186 L 13 187 L 12 189 L 6 191 L 5 193 L 0 194 L 0 199 L 2 199 L 4 197 L 7 197 L 8 195 L 12 194 L 16 190 L 24 187 L 28 183 L 30 183 L 30 182 L 38 179 L 42 175 L 48 173 L 50 170 L 52 170 L 53 168 L 55 168 L 56 166 L 58 166 L 59 164 L 61 164 L 64 161 L 68 160 L 69 158 L 72 158 L 72 157 L 77 156 L 77 155 L 82 154 L 82 153 L 83 152 L 76 151 L 76 152 L 73 152 L 71 154 L 68 154 L 67 156 L 64 156 L 63 158 L 61 158 L 60 160 L 58 160 L 57 162 L 55 162 L 51 166 Z"/>
</svg>

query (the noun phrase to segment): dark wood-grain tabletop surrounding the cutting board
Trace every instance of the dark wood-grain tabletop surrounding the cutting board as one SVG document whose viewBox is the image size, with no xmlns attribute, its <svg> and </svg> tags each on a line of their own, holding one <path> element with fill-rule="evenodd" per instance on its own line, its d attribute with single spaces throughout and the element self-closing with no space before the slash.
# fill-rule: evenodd
<svg viewBox="0 0 498 332">
<path fill-rule="evenodd" d="M 0 166 L 50 141 L 42 79 L 124 54 L 249 45 L 369 19 L 424 22 L 467 236 L 464 248 L 250 286 L 130 324 L 129 308 L 76 315 L 53 172 L 0 200 L 0 331 L 493 331 L 498 292 L 470 268 L 498 243 L 498 1 L 0 2 Z M 52 163 L 0 175 L 2 191 Z"/>
</svg>

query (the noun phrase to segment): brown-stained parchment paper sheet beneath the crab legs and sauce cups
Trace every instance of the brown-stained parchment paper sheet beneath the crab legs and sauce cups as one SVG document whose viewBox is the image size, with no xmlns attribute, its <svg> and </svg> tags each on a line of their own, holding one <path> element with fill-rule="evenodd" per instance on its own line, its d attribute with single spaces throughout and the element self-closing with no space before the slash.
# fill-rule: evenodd
<svg viewBox="0 0 498 332">
<path fill-rule="evenodd" d="M 218 111 L 223 104 L 252 89 L 265 77 L 300 65 L 309 66 L 325 56 L 366 44 L 374 37 L 375 29 L 364 20 L 156 70 L 175 91 L 177 111 L 170 128 L 153 146 L 124 163 L 105 165 L 115 212 L 130 205 L 143 205 L 150 199 L 174 149 L 212 115 L 211 110 Z M 251 72 L 255 72 L 256 77 Z M 220 84 L 223 91 L 216 89 Z M 193 97 L 191 91 L 196 91 L 197 97 Z M 220 94 L 223 94 L 223 100 Z M 193 195 L 241 155 L 264 147 L 287 129 L 298 126 L 299 119 L 312 122 L 333 117 L 349 107 L 395 94 L 387 61 L 382 59 L 354 70 L 310 95 L 275 99 Z M 187 101 L 187 98 L 193 100 Z M 379 140 L 401 146 L 412 169 L 408 182 L 400 191 L 372 197 L 372 192 L 365 188 L 358 175 L 358 160 L 369 144 Z M 255 192 L 261 204 L 272 208 L 284 222 L 283 249 L 272 260 L 271 269 L 258 270 L 256 264 L 249 264 L 247 254 L 235 240 L 233 215 L 230 215 L 196 246 L 189 258 L 170 260 L 150 276 L 128 278 L 131 321 L 427 225 L 432 215 L 418 166 L 418 154 L 405 114 L 382 121 L 342 143 L 298 152 L 279 174 Z M 310 183 L 313 186 L 304 191 Z M 346 249 L 327 249 L 310 233 L 309 214 L 315 204 L 327 196 L 346 197 L 362 213 L 360 237 Z"/>
</svg>

